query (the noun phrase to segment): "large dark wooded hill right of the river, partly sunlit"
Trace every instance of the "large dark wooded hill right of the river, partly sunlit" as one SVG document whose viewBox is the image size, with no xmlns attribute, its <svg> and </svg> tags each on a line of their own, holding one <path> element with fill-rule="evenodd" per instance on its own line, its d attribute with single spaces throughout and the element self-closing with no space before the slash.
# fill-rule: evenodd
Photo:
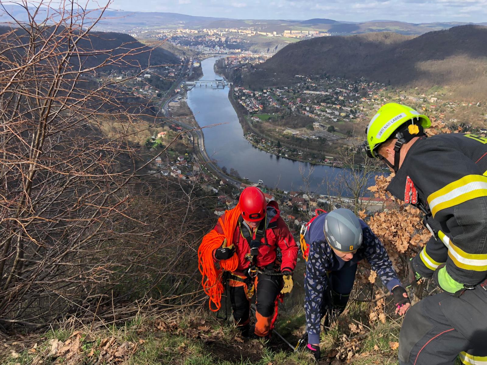
<svg viewBox="0 0 487 365">
<path fill-rule="evenodd" d="M 282 86 L 296 74 L 364 76 L 396 86 L 450 86 L 463 97 L 487 95 L 487 27 L 464 25 L 419 37 L 369 33 L 290 44 L 243 74 L 243 84 Z"/>
</svg>

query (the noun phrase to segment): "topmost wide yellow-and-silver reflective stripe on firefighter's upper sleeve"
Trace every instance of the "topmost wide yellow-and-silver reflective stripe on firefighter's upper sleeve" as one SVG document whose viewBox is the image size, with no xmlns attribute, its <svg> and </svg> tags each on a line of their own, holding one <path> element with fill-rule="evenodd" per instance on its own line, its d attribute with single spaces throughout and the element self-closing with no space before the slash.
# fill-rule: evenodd
<svg viewBox="0 0 487 365">
<path fill-rule="evenodd" d="M 467 175 L 428 197 L 431 214 L 478 197 L 487 196 L 487 176 Z"/>
</svg>

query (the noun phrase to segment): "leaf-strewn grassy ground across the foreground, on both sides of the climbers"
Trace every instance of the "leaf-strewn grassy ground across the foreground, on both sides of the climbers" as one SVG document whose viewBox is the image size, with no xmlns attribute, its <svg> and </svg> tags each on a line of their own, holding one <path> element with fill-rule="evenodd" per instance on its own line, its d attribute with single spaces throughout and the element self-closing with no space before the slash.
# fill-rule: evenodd
<svg viewBox="0 0 487 365">
<path fill-rule="evenodd" d="M 397 349 L 391 349 L 390 343 L 397 342 L 400 320 L 390 318 L 385 324 L 380 322 L 368 323 L 369 307 L 367 303 L 351 302 L 347 310 L 340 316 L 339 321 L 322 333 L 321 353 L 326 356 L 330 351 L 345 349 L 340 363 L 345 363 L 347 343 L 359 338 L 353 349 L 353 356 L 349 364 L 397 365 Z M 127 365 L 309 365 L 313 363 L 312 355 L 305 352 L 292 352 L 274 335 L 270 340 L 242 340 L 238 330 L 230 325 L 218 322 L 209 314 L 189 314 L 185 316 L 166 316 L 161 329 L 161 319 L 154 317 L 136 317 L 120 326 L 105 326 L 98 329 L 86 327 L 73 328 L 72 325 L 60 326 L 40 334 L 31 343 L 21 346 L 8 347 L 6 359 L 0 357 L 0 363 L 5 365 L 30 365 L 34 362 L 43 365 L 88 365 L 98 364 L 127 364 Z M 170 326 L 171 323 L 174 326 Z M 165 324 L 164 324 L 165 323 Z M 276 330 L 291 344 L 295 344 L 304 331 L 304 311 L 297 306 L 287 312 L 282 310 L 277 322 Z M 350 325 L 362 323 L 362 331 L 351 333 Z M 165 327 L 166 326 L 166 327 Z M 167 327 L 169 326 L 169 327 Z M 75 333 L 73 333 L 75 332 Z M 50 358 L 51 341 L 67 341 L 80 339 L 80 346 L 75 351 L 76 362 L 68 353 Z M 101 341 L 114 338 L 109 352 L 114 351 L 128 341 L 136 344 L 130 354 L 122 358 L 110 358 L 104 355 Z M 34 343 L 36 351 L 32 352 Z M 12 356 L 12 350 L 15 350 Z M 90 353 L 93 354 L 90 356 Z M 73 355 L 73 354 L 72 354 Z M 329 359 L 329 361 L 337 361 Z M 326 364 L 328 364 L 325 360 Z"/>
</svg>

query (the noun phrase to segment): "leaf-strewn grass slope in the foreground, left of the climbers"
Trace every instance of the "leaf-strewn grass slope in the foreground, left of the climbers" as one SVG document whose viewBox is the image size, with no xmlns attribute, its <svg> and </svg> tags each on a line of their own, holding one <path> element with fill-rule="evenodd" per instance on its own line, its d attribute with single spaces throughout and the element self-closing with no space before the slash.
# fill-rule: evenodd
<svg viewBox="0 0 487 365">
<path fill-rule="evenodd" d="M 60 325 L 58 329 L 50 329 L 40 334 L 31 343 L 22 342 L 22 348 L 20 345 L 9 347 L 6 358 L 0 357 L 0 363 L 82 365 L 98 362 L 100 355 L 102 358 L 99 364 L 107 365 L 120 362 L 128 365 L 267 365 L 269 362 L 273 365 L 309 364 L 307 354 L 275 349 L 264 340 L 237 340 L 238 330 L 229 325 L 222 327 L 210 315 L 191 314 L 178 318 L 166 317 L 164 320 L 166 323 L 176 321 L 177 325 L 161 330 L 156 325 L 156 318 L 150 317 L 136 317 L 120 326 L 106 326 L 91 331 L 90 325 L 81 328 Z M 105 355 L 101 342 L 106 343 L 112 337 L 112 345 L 108 347 L 108 352 L 111 352 Z M 60 341 L 59 346 L 62 347 L 72 343 L 75 338 L 80 341 L 75 351 L 69 350 L 59 357 L 49 356 L 52 341 Z M 124 357 L 113 358 L 114 352 L 127 341 L 136 344 L 135 351 Z M 37 343 L 35 352 L 32 350 L 34 343 Z"/>
</svg>

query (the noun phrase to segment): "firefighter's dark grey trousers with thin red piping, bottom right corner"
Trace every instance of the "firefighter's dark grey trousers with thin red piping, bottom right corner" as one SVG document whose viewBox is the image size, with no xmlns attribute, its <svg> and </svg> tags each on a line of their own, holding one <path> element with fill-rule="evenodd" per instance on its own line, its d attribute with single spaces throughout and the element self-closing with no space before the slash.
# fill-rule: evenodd
<svg viewBox="0 0 487 365">
<path fill-rule="evenodd" d="M 399 335 L 399 364 L 453 365 L 468 351 L 485 356 L 487 291 L 481 286 L 459 298 L 447 293 L 426 297 L 406 313 Z"/>
</svg>

